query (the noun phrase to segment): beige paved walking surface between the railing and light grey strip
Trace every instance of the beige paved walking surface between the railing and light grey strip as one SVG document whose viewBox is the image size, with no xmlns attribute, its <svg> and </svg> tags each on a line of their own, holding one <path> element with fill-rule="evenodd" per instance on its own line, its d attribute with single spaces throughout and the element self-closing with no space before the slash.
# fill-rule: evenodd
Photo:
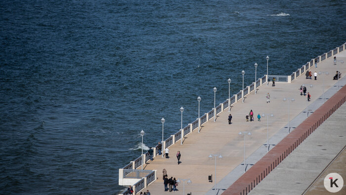
<svg viewBox="0 0 346 195">
<path fill-rule="evenodd" d="M 346 52 L 342 51 L 337 55 L 338 60 L 346 62 Z M 333 80 L 335 72 L 341 71 L 346 74 L 346 63 L 340 62 L 334 66 L 333 59 L 328 58 L 320 63 L 318 67 L 311 67 L 309 70 L 313 72 L 328 71 L 329 75 L 324 75 L 325 91 L 333 89 L 325 94 L 325 98 L 331 97 L 337 89 L 336 81 Z M 343 79 L 344 80 L 344 79 Z M 340 82 L 341 83 L 341 82 Z M 304 73 L 302 76 L 294 80 L 292 83 L 276 83 L 275 87 L 262 85 L 259 87 L 257 94 L 252 92 L 245 98 L 245 102 L 237 102 L 231 108 L 231 114 L 233 116 L 232 124 L 228 125 L 227 116 L 229 112 L 227 110 L 221 112 L 216 122 L 207 122 L 203 124 L 201 132 L 194 131 L 185 136 L 183 145 L 178 144 L 170 146 L 170 158 L 162 158 L 157 156 L 154 161 L 149 162 L 145 166 L 148 170 L 157 170 L 158 180 L 149 185 L 148 188 L 153 195 L 165 195 L 169 192 L 164 192 L 164 185 L 162 180 L 162 169 L 166 168 L 169 177 L 175 177 L 176 179 L 191 179 L 192 184 L 185 184 L 185 194 L 192 192 L 194 195 L 214 194 L 214 182 L 208 182 L 208 175 L 213 174 L 213 180 L 215 180 L 215 160 L 209 159 L 209 154 L 221 154 L 223 158 L 216 159 L 216 182 L 220 182 L 225 177 L 232 177 L 230 179 L 222 180 L 217 183 L 217 193 L 221 194 L 224 189 L 227 189 L 237 178 L 241 176 L 242 171 L 234 172 L 236 168 L 241 168 L 244 159 L 244 136 L 239 136 L 240 131 L 250 131 L 251 136 L 247 136 L 246 141 L 246 157 L 248 158 L 258 149 L 263 148 L 263 154 L 265 154 L 265 147 L 267 138 L 267 124 L 266 118 L 262 118 L 261 122 L 257 122 L 256 116 L 258 113 L 272 113 L 274 117 L 269 119 L 269 138 L 276 134 L 280 134 L 281 137 L 285 135 L 282 130 L 287 130 L 288 121 L 288 102 L 284 102 L 283 98 L 295 98 L 294 102 L 290 103 L 290 119 L 294 119 L 296 116 L 302 114 L 306 110 L 306 97 L 300 96 L 299 88 L 302 84 L 312 84 L 313 88 L 307 88 L 312 98 L 311 102 L 322 105 L 321 98 L 323 91 L 323 79 L 322 75 L 317 77 L 317 80 L 305 79 Z M 266 103 L 265 95 L 269 92 L 270 102 Z M 249 114 L 250 110 L 254 111 L 255 121 L 246 122 L 245 116 Z M 313 111 L 313 110 L 312 110 Z M 305 112 L 306 114 L 306 112 Z M 305 117 L 300 116 L 300 117 Z M 302 118 L 301 122 L 305 119 Z M 291 131 L 298 124 L 291 124 Z M 285 131 L 287 132 L 287 131 Z M 287 134 L 286 134 L 287 135 Z M 280 137 L 280 136 L 278 136 Z M 280 138 L 278 138 L 280 139 Z M 282 138 L 281 138 L 282 139 Z M 269 143 L 271 144 L 271 143 Z M 272 148 L 272 147 L 271 147 Z M 175 154 L 177 151 L 181 152 L 181 164 L 177 164 Z M 257 158 L 247 160 L 247 162 L 256 163 Z M 248 169 L 251 165 L 249 165 Z M 243 168 L 242 168 L 243 170 Z M 229 173 L 234 173 L 230 174 Z M 220 186 L 220 187 L 218 187 Z M 178 187 L 178 192 L 175 194 L 182 194 L 182 184 Z"/>
</svg>

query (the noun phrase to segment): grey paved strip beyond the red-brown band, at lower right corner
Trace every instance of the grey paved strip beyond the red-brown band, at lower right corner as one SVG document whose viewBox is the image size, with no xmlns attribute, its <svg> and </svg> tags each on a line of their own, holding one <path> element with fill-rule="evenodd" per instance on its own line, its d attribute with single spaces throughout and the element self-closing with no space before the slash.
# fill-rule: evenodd
<svg viewBox="0 0 346 195">
<path fill-rule="evenodd" d="M 346 104 L 344 103 L 304 142 L 285 158 L 249 195 L 302 195 L 319 174 L 346 146 Z M 339 157 L 346 157 L 346 150 Z M 322 174 L 339 173 L 346 176 L 345 161 L 336 161 L 339 167 Z M 285 177 L 282 177 L 282 176 Z M 310 195 L 345 195 L 346 188 L 339 193 L 329 193 L 323 185 L 324 177 L 310 190 Z M 346 184 L 345 184 L 346 187 Z"/>
</svg>

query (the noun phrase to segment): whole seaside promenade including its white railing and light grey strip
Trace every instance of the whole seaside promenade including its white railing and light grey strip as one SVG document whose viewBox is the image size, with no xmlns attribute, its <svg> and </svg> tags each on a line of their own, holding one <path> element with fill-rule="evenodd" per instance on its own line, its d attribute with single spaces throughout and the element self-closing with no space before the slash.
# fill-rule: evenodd
<svg viewBox="0 0 346 195">
<path fill-rule="evenodd" d="M 287 135 L 294 133 L 295 129 L 308 116 L 345 86 L 345 47 L 346 44 L 311 59 L 310 62 L 289 76 L 269 75 L 269 79 L 276 78 L 274 87 L 272 87 L 272 82 L 266 85 L 267 77 L 262 77 L 230 98 L 229 102 L 227 99 L 225 102 L 220 103 L 215 109 L 201 116 L 200 120 L 197 119 L 183 128 L 182 131 L 178 131 L 167 139 L 164 146 L 169 146 L 169 159 L 156 155 L 157 151 L 155 149 L 153 161 L 150 161 L 147 155 L 143 154 L 143 156 L 120 169 L 119 185 L 132 185 L 136 194 L 146 190 L 149 190 L 152 195 L 169 194 L 170 192 L 164 192 L 162 170 L 165 168 L 168 178 L 191 180 L 192 184 L 185 184 L 185 195 L 190 192 L 193 195 L 214 195 L 215 182 L 216 193 L 218 195 L 222 194 L 244 174 L 244 145 L 246 148 L 245 169 L 248 171 L 267 154 L 267 136 L 269 137 L 270 151 Z M 334 56 L 337 58 L 336 65 L 333 62 Z M 317 68 L 314 66 L 314 60 L 317 61 Z M 306 71 L 312 72 L 312 79 L 305 79 Z M 339 80 L 333 80 L 336 71 L 342 73 Z M 314 72 L 321 72 L 320 75 L 317 75 L 317 80 L 314 80 Z M 325 74 L 326 72 L 329 74 Z M 311 101 L 307 101 L 306 96 L 300 95 L 299 89 L 302 85 L 306 87 L 307 92 L 311 95 Z M 256 94 L 255 90 L 257 90 Z M 266 103 L 265 97 L 267 93 L 270 94 L 270 102 L 268 103 Z M 242 102 L 243 95 L 244 102 Z M 284 101 L 284 98 L 287 101 Z M 290 101 L 292 98 L 295 100 Z M 230 112 L 228 112 L 229 104 Z M 253 110 L 255 120 L 247 122 L 245 116 L 249 115 L 250 110 Z M 215 122 L 214 112 L 217 113 Z M 265 114 L 264 117 L 262 116 L 263 113 Z M 232 124 L 228 124 L 229 114 L 233 116 Z M 257 120 L 258 114 L 262 117 L 260 122 Z M 272 117 L 271 114 L 273 114 Z M 200 133 L 198 133 L 199 124 L 201 124 Z M 244 144 L 244 135 L 239 135 L 239 132 L 251 133 L 251 135 L 246 135 L 246 144 Z M 185 135 L 181 145 L 180 138 L 182 134 Z M 343 143 L 345 145 L 345 142 Z M 177 151 L 181 153 L 181 163 L 179 165 L 176 158 Z M 216 157 L 216 166 L 214 157 L 209 158 L 210 154 L 222 155 L 222 158 Z M 285 153 L 285 157 L 288 154 Z M 280 162 L 281 160 L 283 159 L 280 159 Z M 141 169 L 142 161 L 146 162 L 146 164 L 143 164 L 144 171 L 134 173 L 133 169 Z M 278 164 L 279 162 L 275 166 Z M 142 175 L 135 176 L 135 174 Z M 124 175 L 130 175 L 131 177 L 125 178 Z M 212 175 L 213 182 L 208 180 L 210 175 Z M 259 181 L 256 183 L 258 184 Z M 182 195 L 183 184 L 180 183 L 177 189 L 178 191 L 175 194 Z M 251 189 L 253 189 L 252 186 Z M 237 190 L 240 194 L 241 190 Z M 234 193 L 238 194 L 238 191 L 234 191 Z"/>
</svg>

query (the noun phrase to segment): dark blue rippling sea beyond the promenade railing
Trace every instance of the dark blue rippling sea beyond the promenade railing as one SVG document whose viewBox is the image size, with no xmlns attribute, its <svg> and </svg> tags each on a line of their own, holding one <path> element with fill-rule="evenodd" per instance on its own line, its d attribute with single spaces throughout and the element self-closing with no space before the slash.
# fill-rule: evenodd
<svg viewBox="0 0 346 195">
<path fill-rule="evenodd" d="M 345 43 L 345 0 L 2 0 L 0 194 L 116 194 L 118 169 L 266 72 Z"/>
</svg>

